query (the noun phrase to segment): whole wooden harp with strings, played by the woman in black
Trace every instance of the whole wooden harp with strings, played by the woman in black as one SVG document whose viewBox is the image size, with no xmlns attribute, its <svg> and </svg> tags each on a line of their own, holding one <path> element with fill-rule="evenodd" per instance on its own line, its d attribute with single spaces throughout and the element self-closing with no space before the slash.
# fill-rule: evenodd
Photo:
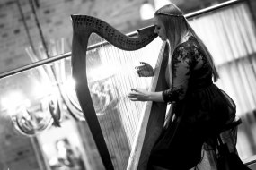
<svg viewBox="0 0 256 170">
<path fill-rule="evenodd" d="M 117 136 L 122 135 L 121 139 L 128 139 L 127 141 L 120 142 L 119 139 L 112 144 L 114 146 L 109 146 L 110 141 L 108 138 L 111 138 L 110 133 L 104 132 L 104 125 L 101 125 L 101 122 L 108 122 L 108 119 L 101 118 L 101 115 L 97 114 L 97 109 L 101 107 L 103 104 L 97 100 L 93 101 L 93 88 L 89 82 L 90 78 L 88 77 L 88 67 L 92 66 L 89 64 L 89 60 L 93 60 L 93 57 L 88 58 L 89 56 L 89 48 L 88 41 L 90 36 L 93 34 L 99 35 L 101 38 L 104 38 L 103 44 L 107 43 L 112 45 L 113 47 L 117 47 L 121 50 L 125 50 L 128 52 L 138 51 L 145 47 L 147 47 L 150 43 L 154 41 L 157 37 L 154 34 L 154 27 L 147 27 L 141 30 L 137 30 L 137 34 L 134 37 L 129 37 L 127 35 L 122 34 L 119 30 L 114 29 L 110 26 L 110 24 L 102 21 L 100 19 L 94 18 L 92 16 L 86 15 L 72 15 L 71 16 L 72 23 L 73 23 L 73 41 L 72 41 L 72 75 L 75 79 L 75 92 L 79 104 L 82 108 L 84 113 L 84 117 L 89 125 L 89 128 L 93 134 L 93 139 L 99 150 L 100 156 L 102 158 L 102 163 L 106 169 L 146 169 L 148 157 L 150 154 L 151 149 L 153 148 L 155 140 L 159 137 L 160 132 L 163 130 L 163 123 L 166 113 L 166 104 L 164 103 L 156 103 L 156 102 L 141 102 L 143 103 L 140 106 L 124 106 L 132 110 L 131 115 L 136 115 L 135 107 L 141 107 L 137 109 L 139 112 L 142 111 L 143 114 L 137 117 L 137 124 L 133 125 L 136 127 L 135 130 L 136 134 L 130 135 L 128 134 L 129 129 L 125 129 L 125 124 L 119 125 L 119 130 L 125 129 L 121 133 L 124 134 L 117 134 Z M 97 45 L 95 45 L 97 46 Z M 155 71 L 154 71 L 154 78 L 152 79 L 151 85 L 149 87 L 150 90 L 163 90 L 165 89 L 166 83 L 164 79 L 164 64 L 166 64 L 166 59 L 168 56 L 168 48 L 163 45 L 160 46 L 159 51 L 157 52 L 159 57 L 156 61 Z M 111 57 L 111 56 L 110 56 Z M 124 56 L 119 56 L 120 59 Z M 131 57 L 131 56 L 129 56 Z M 136 56 L 135 56 L 136 57 Z M 148 56 L 152 57 L 152 56 Z M 104 58 L 104 56 L 102 57 Z M 116 60 L 116 59 L 114 59 Z M 99 62 L 96 62 L 99 63 Z M 126 63 L 126 62 L 125 62 Z M 116 64 L 113 64 L 112 67 L 117 67 Z M 103 73 L 104 71 L 102 71 Z M 107 72 L 107 70 L 105 70 Z M 135 72 L 135 71 L 134 71 Z M 96 74 L 94 74 L 97 76 Z M 126 79 L 126 76 L 121 76 L 122 79 Z M 127 78 L 128 79 L 128 78 Z M 148 78 L 147 78 L 148 79 Z M 127 80 L 124 82 L 118 81 L 117 84 L 123 83 L 122 86 L 126 87 L 131 80 Z M 99 81 L 98 81 L 99 84 Z M 140 83 L 139 83 L 140 84 Z M 101 86 L 99 86 L 101 88 Z M 130 90 L 130 89 L 128 89 Z M 115 92 L 116 93 L 116 92 Z M 125 95 L 126 93 L 124 93 Z M 123 95 L 123 96 L 124 96 Z M 128 97 L 124 97 L 128 98 Z M 113 98 L 109 98 L 111 100 Z M 95 98 L 94 98 L 95 100 Z M 107 100 L 104 98 L 104 100 Z M 119 100 L 121 100 L 119 98 Z M 97 105 L 98 102 L 98 105 Z M 95 103 L 97 106 L 95 106 Z M 109 102 L 110 103 L 110 102 Z M 134 103 L 134 102 L 133 102 Z M 123 103 L 122 105 L 126 105 L 127 103 Z M 128 104 L 133 105 L 133 104 Z M 108 106 L 106 106 L 108 107 Z M 113 106 L 109 106 L 113 107 Z M 125 110 L 125 109 L 124 109 Z M 121 122 L 125 123 L 125 118 L 122 118 L 122 110 L 119 111 L 119 114 L 114 116 L 121 117 L 120 120 L 114 120 L 114 122 Z M 107 113 L 108 115 L 113 114 L 112 111 Z M 108 116 L 106 115 L 106 116 Z M 100 118 L 99 118 L 100 117 Z M 133 123 L 133 120 L 128 120 Z M 110 124 L 109 124 L 110 125 Z M 109 126 L 106 125 L 106 126 Z M 115 132 L 115 130 L 112 130 Z M 111 149 L 115 149 L 119 143 L 121 144 L 121 148 L 128 148 L 120 150 L 120 154 L 124 156 L 123 158 L 119 158 L 119 156 L 115 156 L 115 154 Z M 113 159 L 116 159 L 113 161 Z M 117 160 L 122 159 L 122 160 Z M 121 166 L 119 166 L 119 161 Z"/>
</svg>

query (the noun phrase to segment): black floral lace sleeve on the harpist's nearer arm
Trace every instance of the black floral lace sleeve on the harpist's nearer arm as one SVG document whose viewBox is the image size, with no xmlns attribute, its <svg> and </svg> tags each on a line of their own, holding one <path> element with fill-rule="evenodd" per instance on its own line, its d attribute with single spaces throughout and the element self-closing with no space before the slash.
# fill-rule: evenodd
<svg viewBox="0 0 256 170">
<path fill-rule="evenodd" d="M 188 89 L 192 68 L 197 64 L 195 50 L 178 47 L 172 55 L 172 88 L 164 90 L 163 100 L 168 103 L 182 100 Z"/>
</svg>

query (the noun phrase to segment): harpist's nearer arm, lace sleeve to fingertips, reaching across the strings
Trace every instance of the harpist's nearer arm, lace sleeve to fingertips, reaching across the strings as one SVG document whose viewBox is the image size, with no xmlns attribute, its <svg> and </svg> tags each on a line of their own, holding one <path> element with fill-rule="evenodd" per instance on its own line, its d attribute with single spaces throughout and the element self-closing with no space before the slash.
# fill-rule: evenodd
<svg viewBox="0 0 256 170">
<path fill-rule="evenodd" d="M 172 56 L 172 88 L 159 92 L 132 89 L 128 98 L 132 101 L 168 102 L 182 100 L 187 92 L 191 69 L 197 63 L 193 51 L 179 47 Z"/>
</svg>

